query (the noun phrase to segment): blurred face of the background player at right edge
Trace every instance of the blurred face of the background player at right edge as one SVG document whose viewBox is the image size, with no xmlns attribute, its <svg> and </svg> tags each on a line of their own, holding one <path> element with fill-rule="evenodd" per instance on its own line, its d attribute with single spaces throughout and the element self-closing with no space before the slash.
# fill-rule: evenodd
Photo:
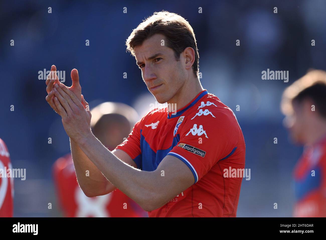
<svg viewBox="0 0 326 240">
<path fill-rule="evenodd" d="M 293 102 L 293 114 L 286 116 L 285 125 L 290 132 L 293 142 L 305 144 L 305 131 L 309 124 L 309 114 L 304 109 L 306 104 Z"/>
</svg>

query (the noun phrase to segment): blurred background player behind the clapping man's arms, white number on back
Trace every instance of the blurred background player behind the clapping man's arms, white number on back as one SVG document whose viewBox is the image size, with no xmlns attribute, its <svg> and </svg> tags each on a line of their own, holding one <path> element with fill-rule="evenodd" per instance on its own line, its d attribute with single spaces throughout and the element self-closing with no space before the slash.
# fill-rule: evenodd
<svg viewBox="0 0 326 240">
<path fill-rule="evenodd" d="M 106 102 L 92 110 L 92 131 L 112 151 L 130 133 L 138 120 L 136 111 L 122 103 Z M 120 190 L 88 198 L 79 187 L 71 154 L 53 165 L 58 199 L 66 217 L 144 217 L 147 212 Z"/>
</svg>

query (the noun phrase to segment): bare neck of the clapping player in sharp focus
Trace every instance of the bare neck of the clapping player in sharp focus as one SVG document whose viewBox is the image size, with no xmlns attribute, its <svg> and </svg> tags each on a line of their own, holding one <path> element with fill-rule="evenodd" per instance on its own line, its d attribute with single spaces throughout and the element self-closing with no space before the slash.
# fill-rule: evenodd
<svg viewBox="0 0 326 240">
<path fill-rule="evenodd" d="M 186 81 L 185 84 L 179 89 L 179 91 L 167 102 L 169 112 L 171 112 L 173 109 L 175 111 L 183 108 L 185 105 L 190 103 L 191 100 L 193 100 L 202 90 L 204 90 L 204 88 L 201 86 L 200 81 L 197 77 L 192 78 L 190 81 Z M 173 104 L 175 104 L 176 107 L 174 107 Z"/>
</svg>

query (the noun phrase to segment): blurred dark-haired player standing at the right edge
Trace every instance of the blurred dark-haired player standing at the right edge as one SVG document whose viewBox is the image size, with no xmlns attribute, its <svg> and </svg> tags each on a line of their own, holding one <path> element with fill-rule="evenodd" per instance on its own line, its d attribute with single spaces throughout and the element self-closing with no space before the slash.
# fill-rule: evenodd
<svg viewBox="0 0 326 240">
<path fill-rule="evenodd" d="M 310 71 L 286 88 L 281 109 L 291 138 L 304 145 L 293 172 L 293 216 L 326 217 L 326 72 Z"/>
</svg>

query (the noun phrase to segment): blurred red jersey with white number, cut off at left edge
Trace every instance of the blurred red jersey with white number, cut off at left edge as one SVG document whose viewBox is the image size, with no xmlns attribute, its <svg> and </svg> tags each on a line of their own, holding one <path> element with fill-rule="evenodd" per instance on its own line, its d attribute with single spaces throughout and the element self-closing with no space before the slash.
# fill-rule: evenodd
<svg viewBox="0 0 326 240">
<path fill-rule="evenodd" d="M 7 169 L 12 169 L 9 151 L 0 138 L 0 217 L 13 216 L 14 179 L 7 175 Z"/>
</svg>

